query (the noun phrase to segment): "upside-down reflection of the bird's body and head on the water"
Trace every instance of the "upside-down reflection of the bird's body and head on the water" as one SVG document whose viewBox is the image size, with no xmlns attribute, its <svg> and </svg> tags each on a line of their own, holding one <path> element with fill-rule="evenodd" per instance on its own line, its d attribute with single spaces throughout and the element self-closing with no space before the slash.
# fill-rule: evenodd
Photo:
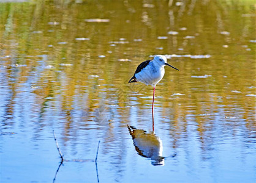
<svg viewBox="0 0 256 183">
<path fill-rule="evenodd" d="M 152 165 L 164 166 L 163 145 L 162 140 L 157 137 L 154 132 L 147 133 L 143 129 L 136 129 L 133 126 L 127 125 L 134 146 L 140 156 L 151 159 Z"/>
</svg>

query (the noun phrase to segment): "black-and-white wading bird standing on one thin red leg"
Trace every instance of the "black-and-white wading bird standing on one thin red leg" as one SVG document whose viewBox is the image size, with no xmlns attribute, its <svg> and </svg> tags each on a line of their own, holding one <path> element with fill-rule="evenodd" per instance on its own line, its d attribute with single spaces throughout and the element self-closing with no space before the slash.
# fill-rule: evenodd
<svg viewBox="0 0 256 183">
<path fill-rule="evenodd" d="M 134 76 L 132 76 L 132 78 L 130 78 L 129 80 L 129 83 L 142 82 L 143 84 L 152 85 L 152 87 L 154 87 L 152 110 L 154 110 L 154 97 L 156 85 L 164 77 L 164 67 L 166 65 L 174 68 L 175 70 L 178 70 L 178 68 L 175 68 L 174 66 L 171 66 L 169 63 L 167 63 L 167 58 L 165 56 L 157 55 L 154 57 L 153 60 L 146 60 L 145 62 L 140 63 L 140 65 L 138 65 L 137 70 L 134 73 Z"/>
</svg>

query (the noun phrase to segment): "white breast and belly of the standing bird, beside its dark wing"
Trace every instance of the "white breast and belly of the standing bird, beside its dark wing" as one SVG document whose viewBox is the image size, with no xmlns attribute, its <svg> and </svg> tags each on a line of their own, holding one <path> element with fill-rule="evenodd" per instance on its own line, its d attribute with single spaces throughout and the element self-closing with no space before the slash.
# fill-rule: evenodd
<svg viewBox="0 0 256 183">
<path fill-rule="evenodd" d="M 154 59 L 140 73 L 135 74 L 136 80 L 146 85 L 155 86 L 164 77 L 164 66 Z"/>
</svg>

